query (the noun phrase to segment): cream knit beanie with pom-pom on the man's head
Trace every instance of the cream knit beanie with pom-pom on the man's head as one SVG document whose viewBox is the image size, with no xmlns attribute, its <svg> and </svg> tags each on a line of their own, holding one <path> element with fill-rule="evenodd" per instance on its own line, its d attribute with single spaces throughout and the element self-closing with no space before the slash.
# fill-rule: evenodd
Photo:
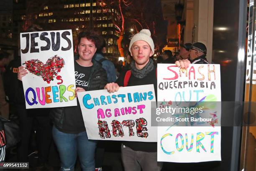
<svg viewBox="0 0 256 171">
<path fill-rule="evenodd" d="M 150 46 L 153 54 L 154 55 L 154 42 L 152 40 L 152 38 L 150 37 L 151 33 L 148 29 L 142 29 L 139 33 L 135 34 L 133 36 L 133 38 L 131 39 L 130 45 L 129 45 L 129 51 L 131 52 L 131 47 L 133 45 L 134 42 L 138 41 L 138 40 L 143 40 L 146 43 L 148 43 L 148 45 Z"/>
</svg>

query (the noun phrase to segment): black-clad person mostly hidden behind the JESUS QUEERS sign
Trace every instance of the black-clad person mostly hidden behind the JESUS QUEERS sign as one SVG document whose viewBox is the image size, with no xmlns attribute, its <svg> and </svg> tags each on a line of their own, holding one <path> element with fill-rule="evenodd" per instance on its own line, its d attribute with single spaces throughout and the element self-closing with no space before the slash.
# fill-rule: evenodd
<svg viewBox="0 0 256 171">
<path fill-rule="evenodd" d="M 26 32 L 36 32 L 42 31 L 38 25 L 31 25 Z M 16 68 L 21 65 L 20 60 L 14 60 L 12 65 L 9 65 L 10 68 Z M 23 69 L 24 67 L 19 67 Z M 18 72 L 20 72 L 20 69 Z M 24 73 L 27 73 L 23 69 Z M 19 73 L 13 73 L 19 78 Z M 17 76 L 15 79 L 17 79 Z M 20 78 L 21 80 L 21 78 Z M 11 83 L 16 83 L 15 81 L 9 80 Z M 17 108 L 17 114 L 19 119 L 20 126 L 20 138 L 21 141 L 18 143 L 17 147 L 17 158 L 18 162 L 28 162 L 28 154 L 30 153 L 30 141 L 31 133 L 33 133 L 33 126 L 36 125 L 36 138 L 38 146 L 38 161 L 37 161 L 37 171 L 49 170 L 50 166 L 48 165 L 48 155 L 49 148 L 52 140 L 51 130 L 52 124 L 49 118 L 49 108 L 35 108 L 35 109 L 26 109 L 25 96 L 23 92 L 23 85 L 21 81 L 18 81 L 18 85 L 13 85 L 17 89 L 13 91 L 13 101 L 15 102 L 15 107 Z M 35 124 L 36 123 L 36 124 Z M 33 152 L 35 153 L 35 152 Z"/>
</svg>

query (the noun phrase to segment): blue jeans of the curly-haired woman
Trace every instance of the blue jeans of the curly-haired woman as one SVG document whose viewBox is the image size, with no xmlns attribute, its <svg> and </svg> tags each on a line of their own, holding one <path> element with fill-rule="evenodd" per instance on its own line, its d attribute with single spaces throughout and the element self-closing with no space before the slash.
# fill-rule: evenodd
<svg viewBox="0 0 256 171">
<path fill-rule="evenodd" d="M 86 131 L 77 134 L 63 133 L 54 126 L 52 135 L 59 151 L 61 171 L 74 171 L 77 153 L 82 171 L 95 171 L 97 141 L 88 140 Z"/>
</svg>

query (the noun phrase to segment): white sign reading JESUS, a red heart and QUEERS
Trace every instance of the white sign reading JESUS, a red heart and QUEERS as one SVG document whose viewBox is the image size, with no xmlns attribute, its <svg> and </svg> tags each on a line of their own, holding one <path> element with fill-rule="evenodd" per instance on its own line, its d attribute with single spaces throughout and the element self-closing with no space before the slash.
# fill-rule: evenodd
<svg viewBox="0 0 256 171">
<path fill-rule="evenodd" d="M 72 30 L 20 33 L 26 108 L 76 106 Z"/>
</svg>

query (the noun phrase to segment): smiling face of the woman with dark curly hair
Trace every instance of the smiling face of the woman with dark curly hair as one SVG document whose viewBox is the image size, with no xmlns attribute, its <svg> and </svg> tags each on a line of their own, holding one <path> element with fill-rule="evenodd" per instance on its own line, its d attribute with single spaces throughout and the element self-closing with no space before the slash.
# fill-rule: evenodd
<svg viewBox="0 0 256 171">
<path fill-rule="evenodd" d="M 87 38 L 81 38 L 79 46 L 78 46 L 78 53 L 80 60 L 92 60 L 97 48 L 95 43 Z"/>
</svg>

